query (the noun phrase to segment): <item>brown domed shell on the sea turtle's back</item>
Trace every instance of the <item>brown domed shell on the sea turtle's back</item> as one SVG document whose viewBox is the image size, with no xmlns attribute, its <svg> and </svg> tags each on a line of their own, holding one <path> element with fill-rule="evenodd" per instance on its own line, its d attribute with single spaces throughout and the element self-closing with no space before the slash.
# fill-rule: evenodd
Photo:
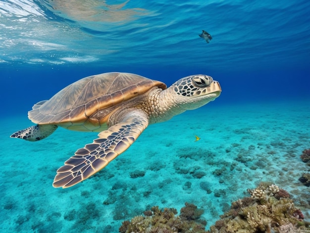
<svg viewBox="0 0 310 233">
<path fill-rule="evenodd" d="M 108 115 L 109 109 L 143 95 L 155 86 L 166 89 L 164 83 L 137 74 L 93 75 L 70 84 L 48 101 L 37 103 L 28 112 L 28 117 L 37 124 L 83 125 L 99 111 L 105 110 Z M 91 123 L 103 122 L 95 120 Z"/>
</svg>

